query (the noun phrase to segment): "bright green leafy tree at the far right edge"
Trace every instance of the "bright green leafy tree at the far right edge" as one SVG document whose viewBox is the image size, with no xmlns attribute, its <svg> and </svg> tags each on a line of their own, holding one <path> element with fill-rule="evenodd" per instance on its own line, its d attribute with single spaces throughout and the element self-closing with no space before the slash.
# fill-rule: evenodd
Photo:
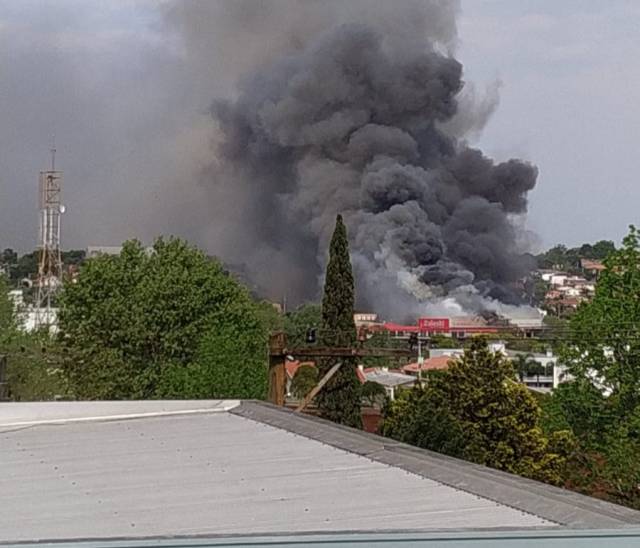
<svg viewBox="0 0 640 548">
<path fill-rule="evenodd" d="M 631 227 L 590 303 L 571 318 L 561 361 L 573 380 L 544 406 L 549 431 L 580 444 L 569 486 L 640 508 L 640 241 Z"/>
</svg>

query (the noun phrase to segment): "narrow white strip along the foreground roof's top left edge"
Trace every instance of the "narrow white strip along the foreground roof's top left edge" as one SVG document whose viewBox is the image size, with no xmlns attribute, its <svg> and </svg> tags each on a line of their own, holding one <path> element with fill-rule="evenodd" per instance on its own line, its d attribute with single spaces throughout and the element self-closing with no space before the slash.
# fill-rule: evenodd
<svg viewBox="0 0 640 548">
<path fill-rule="evenodd" d="M 226 412 L 239 404 L 239 400 L 6 402 L 0 403 L 0 431 L 40 424 Z"/>
</svg>

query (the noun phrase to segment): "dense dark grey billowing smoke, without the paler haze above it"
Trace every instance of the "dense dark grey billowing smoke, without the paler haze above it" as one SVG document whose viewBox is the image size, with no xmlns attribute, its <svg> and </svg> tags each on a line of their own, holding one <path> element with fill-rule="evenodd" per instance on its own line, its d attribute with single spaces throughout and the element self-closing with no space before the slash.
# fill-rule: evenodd
<svg viewBox="0 0 640 548">
<path fill-rule="evenodd" d="M 273 250 L 261 268 L 290 299 L 317 294 L 342 213 L 362 305 L 398 317 L 447 299 L 462 310 L 517 302 L 512 286 L 529 265 L 513 217 L 537 171 L 496 164 L 452 135 L 462 89 L 462 66 L 428 37 L 403 43 L 345 24 L 214 104 L 214 177 L 245 189 L 237 214 L 255 255 Z"/>
</svg>

